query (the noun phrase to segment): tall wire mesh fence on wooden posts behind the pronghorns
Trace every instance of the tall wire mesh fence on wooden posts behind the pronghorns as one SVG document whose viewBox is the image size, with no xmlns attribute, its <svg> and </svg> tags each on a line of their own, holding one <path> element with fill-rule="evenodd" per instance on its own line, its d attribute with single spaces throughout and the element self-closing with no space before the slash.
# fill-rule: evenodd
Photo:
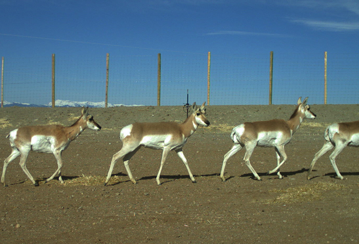
<svg viewBox="0 0 359 244">
<path fill-rule="evenodd" d="M 359 103 L 359 54 L 328 53 L 327 60 L 327 103 Z M 4 57 L 2 99 L 4 105 L 49 105 L 54 96 L 57 102 L 87 101 L 103 106 L 108 68 L 110 105 L 157 105 L 158 98 L 161 105 L 183 105 L 187 90 L 190 103 L 269 103 L 269 53 L 212 54 L 210 70 L 207 54 L 161 55 L 160 73 L 158 61 L 157 55 L 110 56 L 107 67 L 106 55 L 56 55 L 52 94 L 51 55 Z M 293 104 L 298 97 L 308 96 L 311 104 L 323 104 L 324 73 L 324 53 L 274 53 L 272 103 Z"/>
</svg>

